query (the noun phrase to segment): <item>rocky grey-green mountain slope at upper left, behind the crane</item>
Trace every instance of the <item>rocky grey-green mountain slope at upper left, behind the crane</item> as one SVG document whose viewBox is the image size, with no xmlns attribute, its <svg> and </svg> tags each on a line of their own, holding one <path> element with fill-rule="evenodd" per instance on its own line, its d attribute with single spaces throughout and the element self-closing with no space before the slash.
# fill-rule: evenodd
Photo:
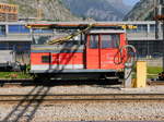
<svg viewBox="0 0 164 122">
<path fill-rule="evenodd" d="M 1 3 L 14 3 L 19 5 L 20 17 L 37 16 L 37 0 L 0 0 Z M 65 8 L 60 0 L 40 0 L 43 20 L 49 21 L 80 21 Z"/>
</svg>

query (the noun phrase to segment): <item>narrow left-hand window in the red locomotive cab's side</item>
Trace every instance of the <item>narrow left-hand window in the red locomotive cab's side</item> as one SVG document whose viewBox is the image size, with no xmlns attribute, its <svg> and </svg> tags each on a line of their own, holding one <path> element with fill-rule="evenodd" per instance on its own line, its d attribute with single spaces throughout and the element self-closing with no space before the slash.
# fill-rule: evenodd
<svg viewBox="0 0 164 122">
<path fill-rule="evenodd" d="M 98 35 L 90 36 L 90 48 L 92 49 L 98 48 Z"/>
</svg>

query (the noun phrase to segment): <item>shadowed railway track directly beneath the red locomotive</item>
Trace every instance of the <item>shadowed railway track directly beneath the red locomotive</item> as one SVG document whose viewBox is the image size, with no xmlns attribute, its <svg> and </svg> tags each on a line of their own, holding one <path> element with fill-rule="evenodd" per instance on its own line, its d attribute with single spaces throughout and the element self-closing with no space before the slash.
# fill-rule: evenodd
<svg viewBox="0 0 164 122">
<path fill-rule="evenodd" d="M 74 80 L 75 81 L 75 80 Z M 92 84 L 101 84 L 101 85 L 121 85 L 121 82 L 115 82 L 115 81 L 55 81 L 55 82 L 47 82 L 47 81 L 34 81 L 32 78 L 27 80 L 0 80 L 0 86 L 26 86 L 26 85 L 48 85 L 48 86 L 55 86 L 55 85 L 92 85 Z M 155 85 L 164 85 L 163 81 L 148 81 L 147 84 L 149 86 L 155 86 Z"/>
</svg>

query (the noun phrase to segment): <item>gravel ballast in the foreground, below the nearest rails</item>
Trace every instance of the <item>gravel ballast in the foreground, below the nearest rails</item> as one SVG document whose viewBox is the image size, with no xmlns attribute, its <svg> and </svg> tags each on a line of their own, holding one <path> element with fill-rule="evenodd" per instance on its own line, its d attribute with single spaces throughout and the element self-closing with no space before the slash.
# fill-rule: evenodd
<svg viewBox="0 0 164 122">
<path fill-rule="evenodd" d="M 26 108 L 27 107 L 27 108 Z M 164 103 L 161 102 L 60 102 L 31 106 L 1 105 L 0 120 L 14 121 L 105 121 L 155 120 L 164 121 Z M 25 109 L 26 108 L 26 109 Z M 10 114 L 13 111 L 12 114 Z"/>
</svg>

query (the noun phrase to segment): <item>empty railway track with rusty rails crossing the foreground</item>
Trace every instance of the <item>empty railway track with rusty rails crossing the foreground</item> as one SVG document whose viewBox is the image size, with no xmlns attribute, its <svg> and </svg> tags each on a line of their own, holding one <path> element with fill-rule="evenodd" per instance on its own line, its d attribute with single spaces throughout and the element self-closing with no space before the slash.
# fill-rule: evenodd
<svg viewBox="0 0 164 122">
<path fill-rule="evenodd" d="M 4 101 L 164 101 L 164 94 L 0 95 Z"/>
</svg>

